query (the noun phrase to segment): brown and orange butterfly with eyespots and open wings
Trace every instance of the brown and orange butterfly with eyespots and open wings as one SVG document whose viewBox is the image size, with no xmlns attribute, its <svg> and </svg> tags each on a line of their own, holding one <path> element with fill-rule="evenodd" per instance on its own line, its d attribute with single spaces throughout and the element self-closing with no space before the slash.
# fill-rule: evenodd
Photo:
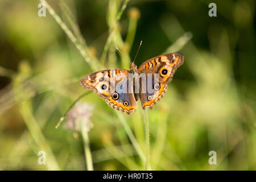
<svg viewBox="0 0 256 182">
<path fill-rule="evenodd" d="M 143 109 L 152 109 L 183 62 L 182 54 L 167 53 L 145 61 L 138 69 L 133 62 L 130 71 L 117 68 L 92 73 L 82 78 L 80 84 L 104 98 L 113 109 L 131 114 L 136 111 L 139 99 Z"/>
</svg>

